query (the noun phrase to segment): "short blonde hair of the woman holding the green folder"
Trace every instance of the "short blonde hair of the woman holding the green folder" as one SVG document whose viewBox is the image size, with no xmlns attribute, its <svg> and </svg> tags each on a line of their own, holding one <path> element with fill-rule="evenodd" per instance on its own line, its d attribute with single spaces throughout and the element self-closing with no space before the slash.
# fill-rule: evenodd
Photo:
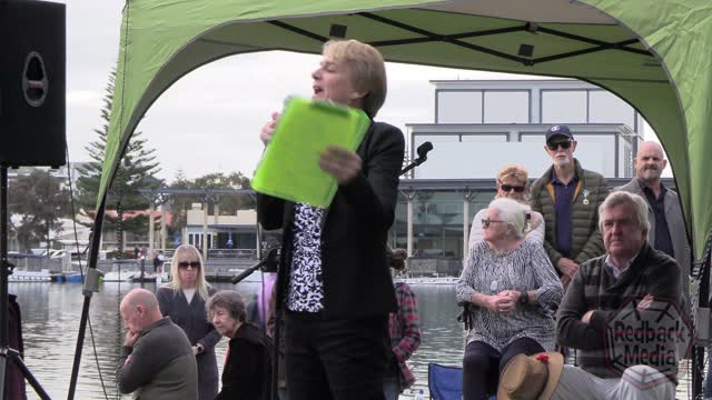
<svg viewBox="0 0 712 400">
<path fill-rule="evenodd" d="M 386 66 L 383 56 L 374 47 L 358 40 L 329 40 L 324 54 L 344 62 L 356 90 L 366 92 L 364 111 L 374 118 L 386 101 Z"/>
</svg>

